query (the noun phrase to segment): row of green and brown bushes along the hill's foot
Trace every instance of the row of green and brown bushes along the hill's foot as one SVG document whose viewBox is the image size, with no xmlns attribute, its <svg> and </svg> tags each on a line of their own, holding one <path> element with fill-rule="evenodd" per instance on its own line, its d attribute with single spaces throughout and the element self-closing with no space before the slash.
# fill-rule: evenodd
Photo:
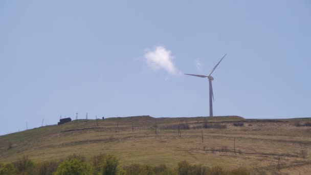
<svg viewBox="0 0 311 175">
<path fill-rule="evenodd" d="M 207 167 L 202 164 L 190 164 L 181 161 L 177 167 L 171 168 L 166 164 L 152 166 L 149 164 L 129 164 L 121 166 L 119 159 L 113 155 L 99 154 L 90 161 L 84 156 L 71 155 L 55 161 L 34 162 L 28 156 L 23 156 L 16 162 L 0 163 L 0 175 L 4 174 L 40 174 L 40 175 L 70 175 L 70 174 L 103 174 L 103 175 L 248 175 L 245 168 L 225 170 L 220 166 Z"/>
</svg>

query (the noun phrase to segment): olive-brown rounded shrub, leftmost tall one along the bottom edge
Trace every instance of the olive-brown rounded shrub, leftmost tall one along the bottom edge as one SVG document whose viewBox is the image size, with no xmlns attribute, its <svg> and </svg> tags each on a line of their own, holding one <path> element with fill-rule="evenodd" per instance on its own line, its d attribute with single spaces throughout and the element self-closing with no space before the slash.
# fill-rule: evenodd
<svg viewBox="0 0 311 175">
<path fill-rule="evenodd" d="M 15 162 L 15 167 L 18 173 L 34 174 L 35 172 L 35 163 L 25 155 Z"/>
</svg>

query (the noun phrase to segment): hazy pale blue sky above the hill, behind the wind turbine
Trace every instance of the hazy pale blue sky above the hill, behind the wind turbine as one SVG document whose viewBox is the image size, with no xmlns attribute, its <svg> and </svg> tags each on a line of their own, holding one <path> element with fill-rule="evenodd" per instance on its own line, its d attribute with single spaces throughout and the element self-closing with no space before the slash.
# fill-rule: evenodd
<svg viewBox="0 0 311 175">
<path fill-rule="evenodd" d="M 0 1 L 0 135 L 76 112 L 208 116 L 208 80 L 183 74 L 225 53 L 215 116 L 310 117 L 310 21 L 307 0 Z"/>
</svg>

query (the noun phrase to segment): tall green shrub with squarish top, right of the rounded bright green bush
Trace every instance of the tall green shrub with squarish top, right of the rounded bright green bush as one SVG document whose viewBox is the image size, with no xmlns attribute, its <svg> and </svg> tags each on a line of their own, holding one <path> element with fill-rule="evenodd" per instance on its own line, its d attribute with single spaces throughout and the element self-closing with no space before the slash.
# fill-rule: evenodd
<svg viewBox="0 0 311 175">
<path fill-rule="evenodd" d="M 93 159 L 93 168 L 95 174 L 117 174 L 119 171 L 119 160 L 112 155 L 95 156 Z"/>
</svg>

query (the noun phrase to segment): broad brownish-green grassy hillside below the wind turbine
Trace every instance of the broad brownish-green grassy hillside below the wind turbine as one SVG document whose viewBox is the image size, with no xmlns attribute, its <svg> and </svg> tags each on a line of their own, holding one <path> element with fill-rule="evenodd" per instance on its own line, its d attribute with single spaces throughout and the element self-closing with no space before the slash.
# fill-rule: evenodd
<svg viewBox="0 0 311 175">
<path fill-rule="evenodd" d="M 256 174 L 276 171 L 280 156 L 281 172 L 307 174 L 311 171 L 308 122 L 310 118 L 238 116 L 77 120 L 1 136 L 0 162 L 14 162 L 23 155 L 35 161 L 59 160 L 74 153 L 91 159 L 102 152 L 116 155 L 123 165 L 173 167 L 187 160 L 227 169 L 242 166 Z"/>
</svg>

